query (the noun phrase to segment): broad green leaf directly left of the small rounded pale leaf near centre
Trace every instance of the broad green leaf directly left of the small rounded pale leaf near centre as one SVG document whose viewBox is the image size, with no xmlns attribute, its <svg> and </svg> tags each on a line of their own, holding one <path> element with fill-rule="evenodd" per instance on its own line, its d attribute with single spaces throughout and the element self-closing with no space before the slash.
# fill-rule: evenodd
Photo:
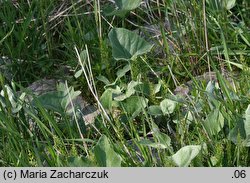
<svg viewBox="0 0 250 183">
<path fill-rule="evenodd" d="M 135 118 L 147 106 L 147 103 L 148 99 L 144 97 L 131 96 L 120 102 L 120 105 L 128 115 Z"/>
</svg>

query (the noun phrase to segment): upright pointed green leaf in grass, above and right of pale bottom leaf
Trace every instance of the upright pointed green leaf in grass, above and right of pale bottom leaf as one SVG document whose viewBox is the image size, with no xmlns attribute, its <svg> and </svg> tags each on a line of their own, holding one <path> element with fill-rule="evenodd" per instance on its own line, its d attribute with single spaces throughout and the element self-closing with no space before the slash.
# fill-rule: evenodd
<svg viewBox="0 0 250 183">
<path fill-rule="evenodd" d="M 221 131 L 224 127 L 224 117 L 219 108 L 216 108 L 207 115 L 203 126 L 210 137 L 217 135 Z"/>
</svg>

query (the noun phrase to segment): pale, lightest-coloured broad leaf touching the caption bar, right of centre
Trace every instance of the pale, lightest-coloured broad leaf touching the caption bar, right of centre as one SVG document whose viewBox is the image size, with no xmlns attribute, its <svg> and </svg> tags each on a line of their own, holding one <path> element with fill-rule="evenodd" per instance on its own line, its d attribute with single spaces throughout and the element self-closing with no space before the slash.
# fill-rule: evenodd
<svg viewBox="0 0 250 183">
<path fill-rule="evenodd" d="M 191 161 L 199 154 L 200 150 L 200 145 L 188 145 L 182 147 L 172 156 L 172 160 L 179 167 L 187 167 L 190 165 Z"/>
</svg>

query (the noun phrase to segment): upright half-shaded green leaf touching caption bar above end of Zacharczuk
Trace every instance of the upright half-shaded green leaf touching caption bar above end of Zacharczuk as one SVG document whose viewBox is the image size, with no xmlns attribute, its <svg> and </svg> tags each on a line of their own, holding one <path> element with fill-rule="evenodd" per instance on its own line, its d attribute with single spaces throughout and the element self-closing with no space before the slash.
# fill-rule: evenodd
<svg viewBox="0 0 250 183">
<path fill-rule="evenodd" d="M 108 138 L 103 135 L 94 147 L 95 159 L 101 167 L 120 167 L 122 158 L 112 148 Z"/>
</svg>

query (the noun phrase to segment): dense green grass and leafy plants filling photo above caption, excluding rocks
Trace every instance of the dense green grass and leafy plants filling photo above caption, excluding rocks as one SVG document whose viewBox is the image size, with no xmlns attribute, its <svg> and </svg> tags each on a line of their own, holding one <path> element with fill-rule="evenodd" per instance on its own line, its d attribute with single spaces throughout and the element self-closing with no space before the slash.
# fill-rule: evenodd
<svg viewBox="0 0 250 183">
<path fill-rule="evenodd" d="M 249 1 L 146 2 L 0 0 L 0 166 L 250 165 Z"/>
</svg>

